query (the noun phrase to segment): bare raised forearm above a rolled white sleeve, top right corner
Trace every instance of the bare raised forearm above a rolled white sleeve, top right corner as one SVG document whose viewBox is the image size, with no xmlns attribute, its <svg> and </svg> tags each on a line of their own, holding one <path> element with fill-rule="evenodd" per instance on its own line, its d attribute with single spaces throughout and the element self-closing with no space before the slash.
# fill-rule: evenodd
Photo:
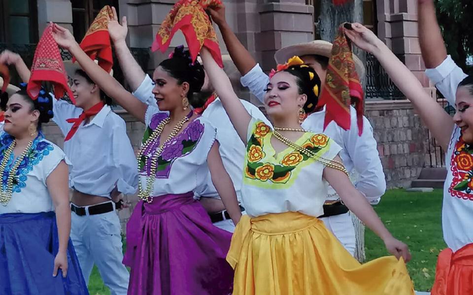
<svg viewBox="0 0 473 295">
<path fill-rule="evenodd" d="M 447 49 L 437 23 L 434 0 L 418 0 L 417 4 L 422 58 L 427 68 L 435 68 L 447 57 Z"/>
</svg>

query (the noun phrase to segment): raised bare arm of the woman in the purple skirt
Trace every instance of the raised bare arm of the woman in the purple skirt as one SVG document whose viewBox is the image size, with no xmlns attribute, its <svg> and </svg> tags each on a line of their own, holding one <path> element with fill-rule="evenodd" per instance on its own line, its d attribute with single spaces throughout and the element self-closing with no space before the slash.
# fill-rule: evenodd
<svg viewBox="0 0 473 295">
<path fill-rule="evenodd" d="M 87 54 L 80 48 L 74 39 L 74 36 L 57 24 L 53 27 L 53 37 L 59 46 L 66 48 L 75 57 L 82 69 L 89 75 L 99 88 L 107 96 L 113 98 L 118 104 L 135 116 L 140 122 L 144 123 L 144 115 L 147 105 L 136 99 L 115 78 L 110 76 L 104 69 L 92 61 Z"/>
</svg>

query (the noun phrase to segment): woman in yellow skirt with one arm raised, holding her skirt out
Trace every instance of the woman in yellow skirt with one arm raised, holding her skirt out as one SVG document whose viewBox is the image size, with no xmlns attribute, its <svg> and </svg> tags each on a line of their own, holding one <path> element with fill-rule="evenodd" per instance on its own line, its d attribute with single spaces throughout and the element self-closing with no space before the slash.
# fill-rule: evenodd
<svg viewBox="0 0 473 295">
<path fill-rule="evenodd" d="M 234 295 L 414 294 L 405 268 L 407 246 L 384 227 L 351 184 L 338 157 L 340 147 L 324 134 L 301 128 L 298 114 L 317 104 L 320 79 L 298 57 L 270 79 L 265 107 L 274 126 L 251 118 L 229 78 L 210 53 L 205 70 L 247 146 L 243 203 L 248 216 L 236 227 L 227 261 L 235 268 Z M 395 257 L 361 265 L 317 219 L 327 182 Z M 366 277 L 375 276 L 367 281 Z M 373 282 L 376 282 L 373 284 Z"/>
</svg>

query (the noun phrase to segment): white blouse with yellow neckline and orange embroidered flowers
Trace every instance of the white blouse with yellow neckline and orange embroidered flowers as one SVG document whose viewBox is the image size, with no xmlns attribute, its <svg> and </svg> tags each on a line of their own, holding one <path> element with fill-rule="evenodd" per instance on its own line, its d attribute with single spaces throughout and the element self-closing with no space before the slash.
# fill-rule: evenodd
<svg viewBox="0 0 473 295">
<path fill-rule="evenodd" d="M 325 166 L 291 147 L 276 155 L 271 137 L 270 126 L 255 118 L 250 121 L 242 187 L 246 212 L 252 217 L 288 211 L 323 215 L 328 189 L 322 178 Z M 321 133 L 305 132 L 295 143 L 328 160 L 341 150 Z"/>
</svg>

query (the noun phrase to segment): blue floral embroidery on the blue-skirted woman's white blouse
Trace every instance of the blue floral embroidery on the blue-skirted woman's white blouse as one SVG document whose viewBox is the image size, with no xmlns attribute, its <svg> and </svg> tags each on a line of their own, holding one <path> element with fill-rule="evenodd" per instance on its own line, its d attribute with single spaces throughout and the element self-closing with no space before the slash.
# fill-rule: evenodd
<svg viewBox="0 0 473 295">
<path fill-rule="evenodd" d="M 33 166 L 39 164 L 44 156 L 49 155 L 49 153 L 54 149 L 53 145 L 47 141 L 44 141 L 44 135 L 39 132 L 38 136 L 33 141 L 33 146 L 30 153 L 28 153 L 23 161 L 21 161 L 18 169 L 16 170 L 15 177 L 13 179 L 13 190 L 14 193 L 20 193 L 21 189 L 26 187 L 26 180 L 28 179 L 28 173 L 33 170 Z M 0 138 L 0 163 L 3 160 L 4 154 L 10 143 L 13 141 L 13 136 L 8 133 L 4 133 Z M 13 159 L 13 154 L 10 155 L 10 159 L 6 165 L 3 175 L 1 175 L 1 188 L 6 190 L 7 181 L 8 181 L 8 172 L 13 166 L 13 162 L 16 159 Z"/>
</svg>

